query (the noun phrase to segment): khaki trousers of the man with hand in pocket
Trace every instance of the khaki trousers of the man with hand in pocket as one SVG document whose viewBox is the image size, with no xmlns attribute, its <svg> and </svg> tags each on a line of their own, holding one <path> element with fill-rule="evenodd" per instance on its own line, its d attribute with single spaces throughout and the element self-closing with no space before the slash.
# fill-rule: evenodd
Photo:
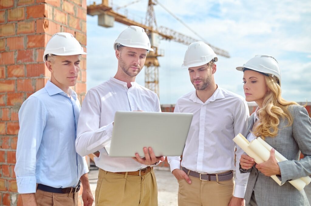
<svg viewBox="0 0 311 206">
<path fill-rule="evenodd" d="M 233 197 L 234 179 L 227 181 L 204 181 L 189 176 L 191 184 L 185 179 L 178 181 L 179 206 L 228 206 Z"/>
</svg>

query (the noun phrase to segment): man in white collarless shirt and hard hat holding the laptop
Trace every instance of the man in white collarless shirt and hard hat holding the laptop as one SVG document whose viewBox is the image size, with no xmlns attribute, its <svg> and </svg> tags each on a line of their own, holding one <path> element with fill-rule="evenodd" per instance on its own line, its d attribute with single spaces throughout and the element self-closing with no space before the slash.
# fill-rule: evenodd
<svg viewBox="0 0 311 206">
<path fill-rule="evenodd" d="M 100 168 L 96 206 L 157 206 L 157 185 L 152 168 L 164 157 L 156 157 L 150 147 L 143 149 L 144 158 L 138 154 L 133 154 L 134 158 L 108 155 L 116 111 L 161 111 L 158 96 L 135 82 L 147 51 L 153 49 L 143 28 L 129 26 L 115 41 L 114 50 L 118 59 L 117 73 L 87 92 L 78 122 L 76 150 L 83 156 L 100 151 L 100 156 L 95 158 Z"/>
</svg>

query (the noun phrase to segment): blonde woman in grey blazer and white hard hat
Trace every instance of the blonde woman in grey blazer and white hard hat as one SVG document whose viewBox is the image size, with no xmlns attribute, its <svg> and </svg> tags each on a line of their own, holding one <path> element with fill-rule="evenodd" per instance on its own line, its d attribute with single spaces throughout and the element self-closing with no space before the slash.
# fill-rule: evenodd
<svg viewBox="0 0 311 206">
<path fill-rule="evenodd" d="M 307 110 L 281 97 L 281 69 L 276 59 L 256 55 L 243 67 L 244 93 L 247 102 L 258 104 L 248 120 L 249 141 L 263 138 L 288 160 L 277 162 L 274 149 L 269 160 L 256 164 L 253 158 L 242 155 L 241 173 L 250 173 L 244 196 L 250 206 L 309 206 L 304 191 L 298 191 L 288 181 L 311 175 L 311 118 Z M 294 72 L 294 70 L 293 70 Z M 299 160 L 300 151 L 304 158 Z M 277 175 L 279 186 L 270 176 Z"/>
</svg>

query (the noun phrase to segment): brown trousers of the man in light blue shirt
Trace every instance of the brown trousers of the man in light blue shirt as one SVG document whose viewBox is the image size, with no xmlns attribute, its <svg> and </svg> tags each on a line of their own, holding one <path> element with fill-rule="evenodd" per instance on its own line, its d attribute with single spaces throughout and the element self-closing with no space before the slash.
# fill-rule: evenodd
<svg viewBox="0 0 311 206">
<path fill-rule="evenodd" d="M 78 192 L 67 194 L 36 191 L 38 206 L 78 206 Z"/>
</svg>

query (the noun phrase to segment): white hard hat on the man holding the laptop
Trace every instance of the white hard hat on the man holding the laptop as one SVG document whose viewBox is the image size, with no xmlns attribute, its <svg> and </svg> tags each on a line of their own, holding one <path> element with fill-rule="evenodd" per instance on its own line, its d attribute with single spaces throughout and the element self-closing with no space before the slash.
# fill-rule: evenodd
<svg viewBox="0 0 311 206">
<path fill-rule="evenodd" d="M 117 50 L 118 45 L 153 51 L 145 29 L 139 26 L 129 26 L 121 32 L 114 42 L 114 50 Z"/>
</svg>

